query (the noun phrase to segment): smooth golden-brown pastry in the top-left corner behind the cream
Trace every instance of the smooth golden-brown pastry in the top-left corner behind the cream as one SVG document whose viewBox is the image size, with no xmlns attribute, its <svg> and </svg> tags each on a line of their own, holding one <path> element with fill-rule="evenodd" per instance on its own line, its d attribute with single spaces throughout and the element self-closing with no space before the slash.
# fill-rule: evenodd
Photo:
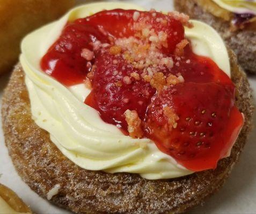
<svg viewBox="0 0 256 214">
<path fill-rule="evenodd" d="M 74 0 L 0 0 L 0 74 L 17 62 L 21 39 L 31 30 L 53 21 Z"/>
</svg>

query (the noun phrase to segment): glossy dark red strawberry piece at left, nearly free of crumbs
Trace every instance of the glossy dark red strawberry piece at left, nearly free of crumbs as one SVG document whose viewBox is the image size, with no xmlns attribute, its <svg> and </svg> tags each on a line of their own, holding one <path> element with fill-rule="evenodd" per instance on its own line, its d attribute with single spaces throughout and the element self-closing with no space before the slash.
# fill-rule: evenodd
<svg viewBox="0 0 256 214">
<path fill-rule="evenodd" d="M 95 40 L 108 42 L 95 26 L 68 23 L 60 39 L 41 59 L 42 70 L 66 86 L 82 83 L 90 69 L 81 52 L 84 48 L 92 50 L 91 42 Z"/>
</svg>

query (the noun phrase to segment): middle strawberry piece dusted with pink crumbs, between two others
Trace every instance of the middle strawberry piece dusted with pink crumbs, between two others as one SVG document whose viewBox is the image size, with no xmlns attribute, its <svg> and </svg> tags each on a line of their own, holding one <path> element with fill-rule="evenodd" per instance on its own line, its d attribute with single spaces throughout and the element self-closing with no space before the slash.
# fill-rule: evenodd
<svg viewBox="0 0 256 214">
<path fill-rule="evenodd" d="M 116 62 L 113 64 L 112 62 Z M 97 109 L 107 123 L 127 130 L 124 113 L 135 110 L 141 119 L 156 90 L 148 82 L 135 80 L 132 73 L 142 73 L 130 66 L 122 57 L 113 56 L 107 50 L 97 55 L 96 71 L 93 77 L 93 90 L 85 103 Z"/>
</svg>

